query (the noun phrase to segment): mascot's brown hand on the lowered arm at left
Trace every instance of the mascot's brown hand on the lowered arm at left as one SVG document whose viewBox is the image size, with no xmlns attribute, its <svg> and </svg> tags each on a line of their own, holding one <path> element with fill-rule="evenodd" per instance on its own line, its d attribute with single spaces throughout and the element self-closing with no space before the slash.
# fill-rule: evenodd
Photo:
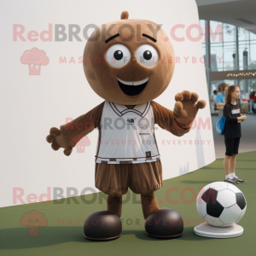
<svg viewBox="0 0 256 256">
<path fill-rule="evenodd" d="M 64 137 L 61 134 L 61 131 L 58 128 L 50 128 L 49 135 L 46 137 L 46 141 L 48 143 L 51 143 L 51 148 L 53 148 L 54 150 L 59 150 L 59 148 L 65 148 L 63 152 L 67 156 L 72 153 L 73 148 L 66 143 Z"/>
</svg>

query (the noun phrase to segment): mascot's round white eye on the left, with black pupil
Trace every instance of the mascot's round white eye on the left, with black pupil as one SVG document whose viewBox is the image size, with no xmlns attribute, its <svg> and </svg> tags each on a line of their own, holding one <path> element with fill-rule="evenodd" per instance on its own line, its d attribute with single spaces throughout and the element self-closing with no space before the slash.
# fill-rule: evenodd
<svg viewBox="0 0 256 256">
<path fill-rule="evenodd" d="M 108 49 L 106 58 L 112 67 L 124 67 L 131 60 L 131 53 L 125 45 L 114 44 Z"/>
</svg>

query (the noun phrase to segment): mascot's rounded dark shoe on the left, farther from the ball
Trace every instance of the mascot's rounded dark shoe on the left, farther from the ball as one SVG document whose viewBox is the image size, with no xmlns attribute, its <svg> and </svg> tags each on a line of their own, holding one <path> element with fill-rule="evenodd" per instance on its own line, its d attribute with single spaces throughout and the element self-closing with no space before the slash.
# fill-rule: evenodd
<svg viewBox="0 0 256 256">
<path fill-rule="evenodd" d="M 84 221 L 84 237 L 90 240 L 112 240 L 121 236 L 121 232 L 122 223 L 112 212 L 92 212 Z"/>
</svg>

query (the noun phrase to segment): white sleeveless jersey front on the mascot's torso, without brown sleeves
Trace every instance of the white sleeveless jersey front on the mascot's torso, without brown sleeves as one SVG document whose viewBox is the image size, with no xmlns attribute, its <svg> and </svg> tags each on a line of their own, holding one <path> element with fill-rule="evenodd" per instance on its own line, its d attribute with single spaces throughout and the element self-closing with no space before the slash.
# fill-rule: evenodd
<svg viewBox="0 0 256 256">
<path fill-rule="evenodd" d="M 139 164 L 160 160 L 154 139 L 154 113 L 150 102 L 128 108 L 105 102 L 96 163 Z"/>
</svg>

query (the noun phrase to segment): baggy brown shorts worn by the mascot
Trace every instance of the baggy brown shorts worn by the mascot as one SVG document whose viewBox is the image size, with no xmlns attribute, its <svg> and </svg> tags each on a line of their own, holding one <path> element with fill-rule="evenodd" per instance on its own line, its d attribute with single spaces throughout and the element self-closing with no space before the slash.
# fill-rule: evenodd
<svg viewBox="0 0 256 256">
<path fill-rule="evenodd" d="M 125 195 L 128 187 L 136 194 L 147 195 L 163 185 L 161 161 L 122 165 L 96 163 L 95 185 L 112 196 Z"/>
</svg>

